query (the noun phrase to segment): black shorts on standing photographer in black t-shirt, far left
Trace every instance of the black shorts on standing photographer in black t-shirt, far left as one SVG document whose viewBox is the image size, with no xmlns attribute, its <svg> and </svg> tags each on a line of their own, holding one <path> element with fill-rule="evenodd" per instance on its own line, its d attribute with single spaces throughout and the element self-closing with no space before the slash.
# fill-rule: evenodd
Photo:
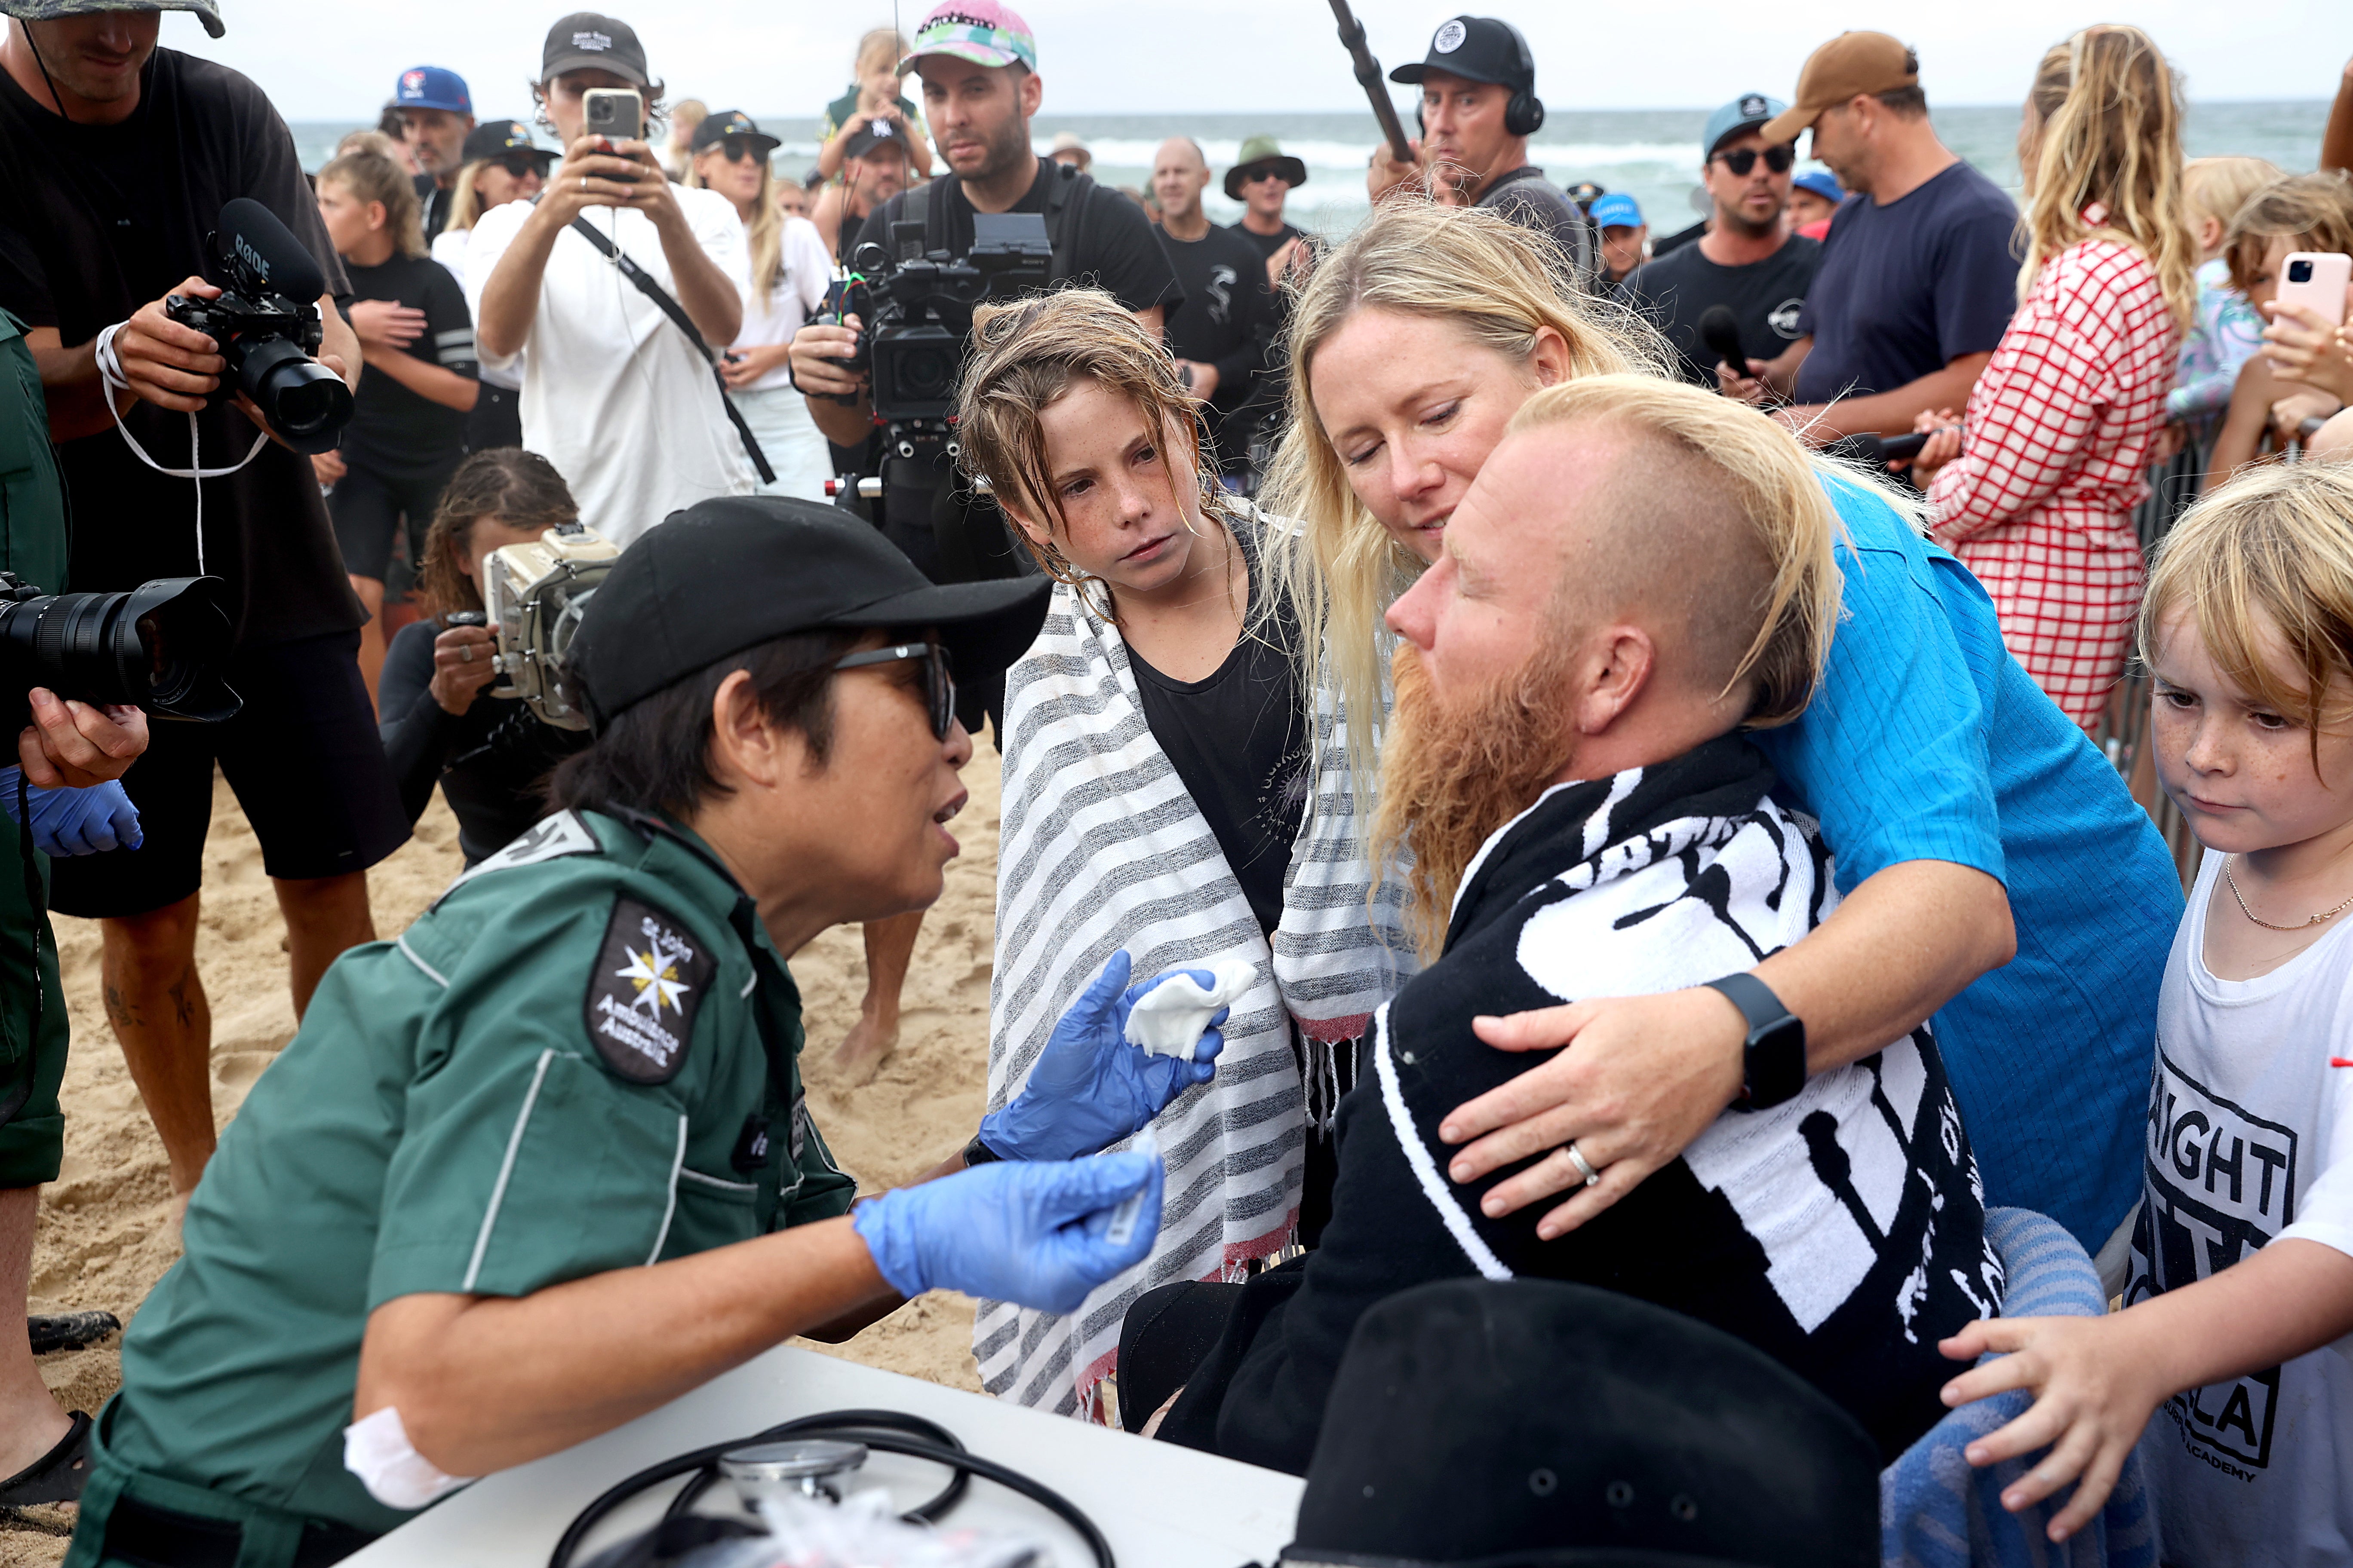
<svg viewBox="0 0 2353 1568">
<path fill-rule="evenodd" d="M 409 818 L 358 651 L 358 632 L 238 649 L 228 684 L 245 710 L 226 724 L 151 722 L 146 755 L 122 776 L 146 844 L 52 860 L 49 907 L 106 919 L 193 893 L 205 879 L 214 762 L 261 839 L 271 877 L 341 877 L 400 849 Z"/>
</svg>

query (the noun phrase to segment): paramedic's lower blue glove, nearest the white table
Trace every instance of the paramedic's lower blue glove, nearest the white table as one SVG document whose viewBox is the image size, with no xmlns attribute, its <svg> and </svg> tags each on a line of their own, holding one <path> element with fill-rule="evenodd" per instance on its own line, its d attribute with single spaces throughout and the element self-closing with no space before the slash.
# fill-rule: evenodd
<svg viewBox="0 0 2353 1568">
<path fill-rule="evenodd" d="M 1160 1234 L 1158 1157 L 976 1166 L 859 1204 L 852 1225 L 889 1286 L 908 1300 L 962 1291 L 988 1300 L 1075 1312 L 1087 1291 L 1144 1262 Z M 1111 1213 L 1144 1194 L 1125 1244 Z"/>
</svg>

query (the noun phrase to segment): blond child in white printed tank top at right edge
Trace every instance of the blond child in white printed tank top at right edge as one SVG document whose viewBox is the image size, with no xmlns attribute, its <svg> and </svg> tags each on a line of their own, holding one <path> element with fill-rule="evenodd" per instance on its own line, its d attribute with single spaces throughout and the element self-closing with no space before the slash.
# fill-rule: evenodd
<svg viewBox="0 0 2353 1568">
<path fill-rule="evenodd" d="M 2144 1462 L 2160 1556 L 2344 1563 L 2353 1537 L 2353 468 L 2259 468 L 2181 517 L 2141 607 L 2158 780 L 2207 856 L 2158 997 L 2125 1309 L 1979 1321 L 2012 1352 L 1946 1403 L 2033 1389 L 1972 1465 L 2049 1448 L 2002 1505 Z"/>
</svg>

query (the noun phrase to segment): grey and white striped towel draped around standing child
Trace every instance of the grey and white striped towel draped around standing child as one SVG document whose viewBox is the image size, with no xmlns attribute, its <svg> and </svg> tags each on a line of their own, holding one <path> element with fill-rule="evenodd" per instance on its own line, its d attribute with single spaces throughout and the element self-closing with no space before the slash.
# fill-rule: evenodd
<svg viewBox="0 0 2353 1568">
<path fill-rule="evenodd" d="M 1217 835 L 1153 741 L 1127 644 L 1071 585 L 1005 677 L 998 961 L 988 985 L 988 1105 L 1028 1079 L 1071 999 L 1113 952 L 1134 973 L 1247 961 L 1217 1077 L 1158 1119 L 1167 1161 L 1160 1241 L 1068 1314 L 981 1302 L 972 1354 L 991 1394 L 1104 1420 L 1120 1321 L 1148 1288 L 1240 1279 L 1299 1222 L 1311 1126 L 1329 1128 L 1372 1011 L 1414 971 L 1402 891 L 1372 886 L 1346 769 L 1346 715 L 1318 696 L 1315 788 L 1268 947 Z M 1304 1039 L 1306 1070 L 1292 1048 Z"/>
</svg>

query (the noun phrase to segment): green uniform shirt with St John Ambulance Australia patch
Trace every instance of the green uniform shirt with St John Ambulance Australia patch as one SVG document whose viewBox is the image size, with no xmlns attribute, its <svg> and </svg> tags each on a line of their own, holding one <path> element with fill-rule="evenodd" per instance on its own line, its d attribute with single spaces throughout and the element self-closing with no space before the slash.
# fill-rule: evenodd
<svg viewBox="0 0 2353 1568">
<path fill-rule="evenodd" d="M 146 1556 L 158 1509 L 242 1528 L 235 1568 L 409 1519 L 344 1469 L 360 1338 L 393 1298 L 527 1295 L 847 1213 L 800 1044 L 751 898 L 654 818 L 551 816 L 400 940 L 346 952 L 122 1340 L 66 1563 Z"/>
</svg>

